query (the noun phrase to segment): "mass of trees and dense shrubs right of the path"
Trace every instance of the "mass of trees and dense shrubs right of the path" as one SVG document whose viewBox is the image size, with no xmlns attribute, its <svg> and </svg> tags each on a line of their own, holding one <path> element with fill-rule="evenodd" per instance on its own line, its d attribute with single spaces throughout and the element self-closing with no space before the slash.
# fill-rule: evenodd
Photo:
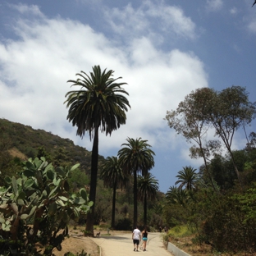
<svg viewBox="0 0 256 256">
<path fill-rule="evenodd" d="M 180 186 L 167 191 L 164 217 L 170 237 L 177 226 L 186 225 L 194 244 L 210 245 L 212 252 L 256 252 L 255 133 L 246 136 L 244 149 L 231 149 L 235 131 L 246 131 L 255 115 L 256 103 L 240 86 L 221 92 L 197 89 L 167 112 L 168 126 L 194 143 L 190 157 L 203 158 L 197 173 L 192 167 L 178 171 Z M 208 139 L 211 129 L 213 140 Z"/>
</svg>

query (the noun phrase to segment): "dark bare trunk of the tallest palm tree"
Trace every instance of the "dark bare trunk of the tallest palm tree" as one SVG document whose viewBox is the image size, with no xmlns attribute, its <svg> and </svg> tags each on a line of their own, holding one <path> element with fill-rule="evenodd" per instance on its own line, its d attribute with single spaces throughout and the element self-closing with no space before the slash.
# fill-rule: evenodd
<svg viewBox="0 0 256 256">
<path fill-rule="evenodd" d="M 86 231 L 88 235 L 94 235 L 94 212 L 95 212 L 95 199 L 96 199 L 96 187 L 97 187 L 97 173 L 98 173 L 98 129 L 94 129 L 94 144 L 92 151 L 91 162 L 91 176 L 89 187 L 89 201 L 93 201 L 94 204 L 87 214 L 86 219 Z"/>
</svg>

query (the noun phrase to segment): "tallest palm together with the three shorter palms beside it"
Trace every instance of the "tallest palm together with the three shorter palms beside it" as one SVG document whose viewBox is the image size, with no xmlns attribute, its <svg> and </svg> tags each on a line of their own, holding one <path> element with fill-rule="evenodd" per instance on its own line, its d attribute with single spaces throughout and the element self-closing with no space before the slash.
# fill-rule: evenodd
<svg viewBox="0 0 256 256">
<path fill-rule="evenodd" d="M 113 79 L 112 70 L 101 71 L 100 66 L 94 66 L 93 71 L 87 75 L 84 71 L 76 74 L 77 80 L 68 80 L 71 86 L 80 86 L 78 90 L 72 90 L 66 94 L 66 107 L 68 115 L 66 119 L 77 127 L 76 135 L 81 138 L 85 132 L 89 132 L 89 138 L 94 139 L 92 158 L 91 158 L 91 176 L 89 200 L 95 202 L 96 186 L 98 175 L 98 131 L 111 135 L 113 130 L 117 130 L 121 125 L 126 124 L 126 112 L 130 107 L 129 101 L 123 94 L 129 95 L 121 85 L 126 83 L 117 83 Z M 144 214 L 146 212 L 146 199 L 149 197 L 145 190 L 143 177 L 146 181 L 153 181 L 153 187 L 158 190 L 158 182 L 149 174 L 149 170 L 154 166 L 153 151 L 147 140 L 126 139 L 127 143 L 122 144 L 122 149 L 118 152 L 118 158 L 107 158 L 103 170 L 104 181 L 106 185 L 112 185 L 113 188 L 113 209 L 112 226 L 115 222 L 115 199 L 117 185 L 125 185 L 128 175 L 134 178 L 134 226 L 137 225 L 137 199 L 138 195 L 144 194 Z M 137 186 L 137 176 L 139 173 L 139 190 Z M 151 189 L 150 189 L 151 190 Z M 137 193 L 139 192 L 139 194 Z M 89 235 L 94 234 L 94 209 L 95 204 L 88 213 L 85 230 Z M 146 222 L 146 217 L 144 217 Z"/>
</svg>

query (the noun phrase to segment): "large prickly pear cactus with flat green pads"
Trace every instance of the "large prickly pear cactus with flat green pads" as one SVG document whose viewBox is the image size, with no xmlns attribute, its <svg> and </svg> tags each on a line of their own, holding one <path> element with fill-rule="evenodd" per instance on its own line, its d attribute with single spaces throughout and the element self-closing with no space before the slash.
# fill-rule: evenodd
<svg viewBox="0 0 256 256">
<path fill-rule="evenodd" d="M 69 192 L 67 177 L 77 167 L 55 169 L 45 158 L 30 158 L 20 178 L 5 178 L 8 187 L 0 187 L 0 249 L 14 255 L 42 254 L 38 248 L 52 255 L 54 248 L 62 249 L 67 224 L 93 204 L 84 189 Z"/>
</svg>

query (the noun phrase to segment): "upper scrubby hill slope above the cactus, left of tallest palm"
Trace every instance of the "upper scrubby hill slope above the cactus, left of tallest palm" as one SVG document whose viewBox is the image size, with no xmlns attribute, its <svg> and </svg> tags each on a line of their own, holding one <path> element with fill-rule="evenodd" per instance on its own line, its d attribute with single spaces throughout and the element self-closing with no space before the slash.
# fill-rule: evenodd
<svg viewBox="0 0 256 256">
<path fill-rule="evenodd" d="M 55 166 L 80 163 L 80 171 L 90 174 L 91 152 L 45 130 L 0 119 L 0 171 L 2 177 L 15 173 L 16 165 L 28 158 L 45 157 Z M 99 163 L 104 161 L 99 156 Z M 2 183 L 2 182 L 1 182 Z"/>
</svg>

